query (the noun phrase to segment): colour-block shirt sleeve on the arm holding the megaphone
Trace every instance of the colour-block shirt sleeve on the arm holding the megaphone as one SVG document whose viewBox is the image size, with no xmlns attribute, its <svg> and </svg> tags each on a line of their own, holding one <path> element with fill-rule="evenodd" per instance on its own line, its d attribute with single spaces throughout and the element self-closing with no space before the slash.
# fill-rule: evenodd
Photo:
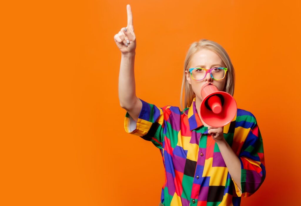
<svg viewBox="0 0 301 206">
<path fill-rule="evenodd" d="M 254 194 L 265 180 L 263 142 L 257 121 L 255 117 L 253 119 L 250 123 L 251 130 L 238 156 L 241 163 L 241 190 L 232 179 L 238 197 Z"/>
</svg>

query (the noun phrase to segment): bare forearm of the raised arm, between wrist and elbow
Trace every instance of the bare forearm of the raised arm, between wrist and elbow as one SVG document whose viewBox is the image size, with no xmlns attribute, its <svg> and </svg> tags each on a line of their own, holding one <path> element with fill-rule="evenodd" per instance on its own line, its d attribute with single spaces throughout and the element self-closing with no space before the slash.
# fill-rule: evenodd
<svg viewBox="0 0 301 206">
<path fill-rule="evenodd" d="M 130 109 L 137 101 L 134 75 L 135 53 L 121 54 L 118 95 L 120 106 Z"/>
</svg>

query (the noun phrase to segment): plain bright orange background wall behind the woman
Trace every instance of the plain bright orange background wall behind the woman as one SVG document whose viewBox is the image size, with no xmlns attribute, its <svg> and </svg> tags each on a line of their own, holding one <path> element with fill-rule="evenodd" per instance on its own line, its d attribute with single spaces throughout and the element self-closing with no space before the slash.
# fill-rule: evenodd
<svg viewBox="0 0 301 206">
<path fill-rule="evenodd" d="M 296 205 L 299 1 L 19 1 L 1 6 L 0 205 L 158 205 L 159 149 L 127 134 L 113 36 L 133 13 L 137 97 L 180 106 L 185 54 L 221 44 L 262 133 L 266 179 L 242 204 Z"/>
</svg>

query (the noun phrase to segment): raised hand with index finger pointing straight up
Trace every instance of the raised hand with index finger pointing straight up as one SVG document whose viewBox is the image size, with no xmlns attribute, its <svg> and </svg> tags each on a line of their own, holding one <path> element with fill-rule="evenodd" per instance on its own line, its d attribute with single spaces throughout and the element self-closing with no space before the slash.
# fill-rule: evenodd
<svg viewBox="0 0 301 206">
<path fill-rule="evenodd" d="M 114 40 L 121 53 L 135 53 L 136 49 L 136 36 L 133 27 L 133 16 L 131 6 L 126 5 L 128 14 L 128 26 L 121 28 L 118 34 L 115 34 Z"/>
</svg>

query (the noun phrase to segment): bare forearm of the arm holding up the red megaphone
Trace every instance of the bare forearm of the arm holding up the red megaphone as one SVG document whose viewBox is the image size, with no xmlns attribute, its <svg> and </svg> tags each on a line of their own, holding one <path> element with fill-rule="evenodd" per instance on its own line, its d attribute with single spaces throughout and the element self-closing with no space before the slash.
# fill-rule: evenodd
<svg viewBox="0 0 301 206">
<path fill-rule="evenodd" d="M 224 138 L 223 140 L 216 141 L 216 143 L 219 146 L 219 150 L 222 154 L 222 157 L 225 161 L 225 164 L 228 168 L 228 171 L 232 179 L 241 190 L 241 185 L 240 185 L 241 163 L 239 158 L 236 156 L 233 149 L 230 147 L 230 145 L 226 142 Z"/>
</svg>

